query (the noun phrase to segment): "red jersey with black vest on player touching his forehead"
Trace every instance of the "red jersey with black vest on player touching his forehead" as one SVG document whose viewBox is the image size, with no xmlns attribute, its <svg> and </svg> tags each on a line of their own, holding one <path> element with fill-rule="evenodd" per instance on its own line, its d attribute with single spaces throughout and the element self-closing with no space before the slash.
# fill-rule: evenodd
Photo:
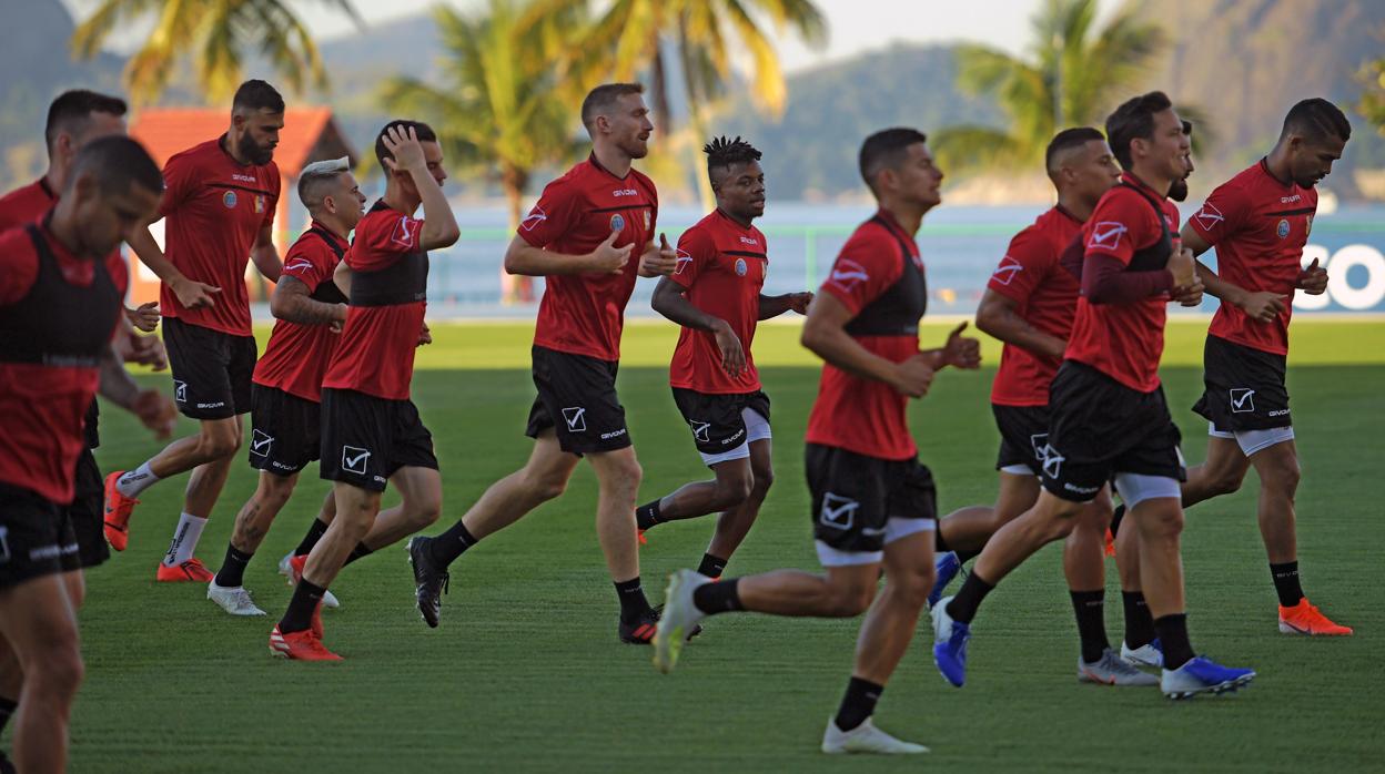
<svg viewBox="0 0 1385 774">
<path fill-rule="evenodd" d="M 428 310 L 428 252 L 418 242 L 422 228 L 422 220 L 384 201 L 356 224 L 343 259 L 352 270 L 350 306 L 324 388 L 409 399 L 414 349 Z"/>
</svg>

